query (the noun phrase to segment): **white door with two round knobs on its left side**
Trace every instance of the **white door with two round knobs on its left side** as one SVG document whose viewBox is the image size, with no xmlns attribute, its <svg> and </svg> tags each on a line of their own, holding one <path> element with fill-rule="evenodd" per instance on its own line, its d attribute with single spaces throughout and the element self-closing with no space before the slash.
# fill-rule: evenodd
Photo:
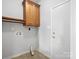
<svg viewBox="0 0 79 59">
<path fill-rule="evenodd" d="M 51 13 L 51 59 L 70 59 L 70 3 Z"/>
</svg>

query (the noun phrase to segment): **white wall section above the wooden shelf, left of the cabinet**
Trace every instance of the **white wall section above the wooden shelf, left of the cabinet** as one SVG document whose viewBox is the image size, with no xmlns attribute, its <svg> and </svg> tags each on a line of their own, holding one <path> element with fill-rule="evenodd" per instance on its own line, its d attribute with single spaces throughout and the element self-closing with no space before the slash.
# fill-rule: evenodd
<svg viewBox="0 0 79 59">
<path fill-rule="evenodd" d="M 23 19 L 23 0 L 2 0 L 2 15 Z"/>
</svg>

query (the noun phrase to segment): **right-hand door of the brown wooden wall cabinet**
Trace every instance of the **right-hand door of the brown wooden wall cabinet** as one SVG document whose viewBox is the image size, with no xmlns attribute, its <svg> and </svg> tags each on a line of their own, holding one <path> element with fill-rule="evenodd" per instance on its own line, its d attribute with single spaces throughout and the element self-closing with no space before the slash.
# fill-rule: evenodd
<svg viewBox="0 0 79 59">
<path fill-rule="evenodd" d="M 40 19 L 40 12 L 39 12 L 39 7 L 38 6 L 36 6 L 36 5 L 33 5 L 33 12 L 32 12 L 32 15 L 33 15 L 33 17 L 32 17 L 32 20 L 33 20 L 33 25 L 34 26 L 36 26 L 36 27 L 39 27 L 39 25 L 40 25 L 40 21 L 39 21 L 39 19 Z"/>
</svg>

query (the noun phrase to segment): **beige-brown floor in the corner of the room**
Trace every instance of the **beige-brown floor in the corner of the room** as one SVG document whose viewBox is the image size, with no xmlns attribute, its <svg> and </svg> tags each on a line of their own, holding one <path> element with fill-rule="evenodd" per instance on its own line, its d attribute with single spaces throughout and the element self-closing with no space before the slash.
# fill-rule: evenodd
<svg viewBox="0 0 79 59">
<path fill-rule="evenodd" d="M 49 59 L 48 57 L 44 56 L 42 53 L 38 51 L 34 51 L 34 56 L 31 56 L 30 53 L 12 58 L 12 59 Z"/>
</svg>

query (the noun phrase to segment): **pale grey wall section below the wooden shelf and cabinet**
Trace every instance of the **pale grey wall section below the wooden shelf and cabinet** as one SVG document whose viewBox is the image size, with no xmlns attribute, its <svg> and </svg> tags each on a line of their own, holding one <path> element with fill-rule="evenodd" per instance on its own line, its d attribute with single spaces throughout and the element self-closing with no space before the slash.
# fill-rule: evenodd
<svg viewBox="0 0 79 59">
<path fill-rule="evenodd" d="M 21 33 L 21 35 L 19 34 Z M 22 24 L 2 23 L 2 48 L 3 58 L 9 58 L 19 53 L 38 49 L 38 29 L 23 27 Z"/>
</svg>

